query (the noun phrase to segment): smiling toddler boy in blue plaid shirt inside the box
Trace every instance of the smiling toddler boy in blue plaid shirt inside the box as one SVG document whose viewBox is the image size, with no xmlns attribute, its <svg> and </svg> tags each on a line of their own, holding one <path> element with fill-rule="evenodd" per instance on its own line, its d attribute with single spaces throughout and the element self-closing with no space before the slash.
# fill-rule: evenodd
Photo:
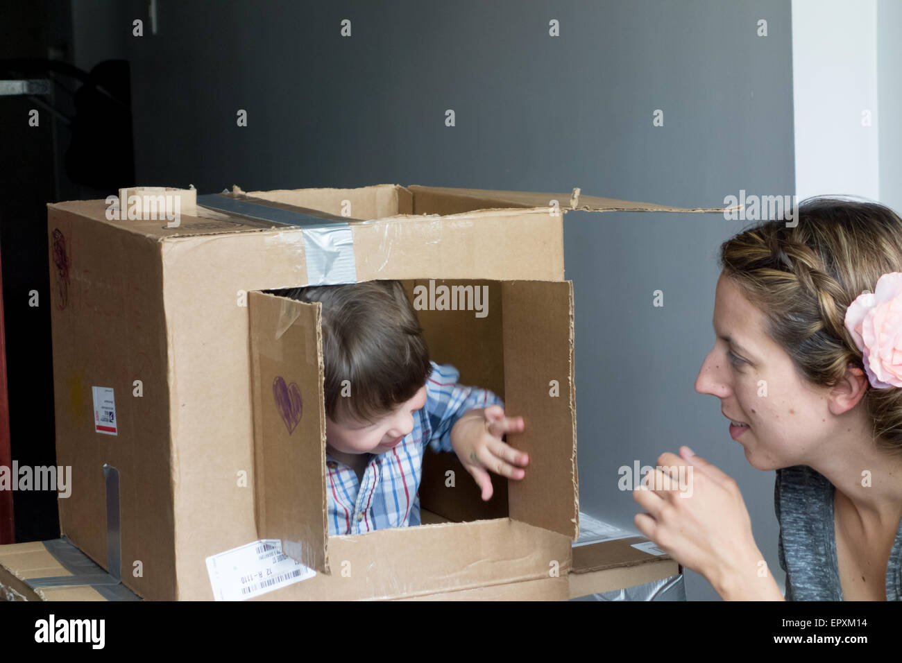
<svg viewBox="0 0 902 663">
<path fill-rule="evenodd" d="M 492 391 L 436 364 L 400 281 L 289 290 L 322 303 L 329 534 L 419 525 L 423 454 L 454 451 L 492 498 L 486 468 L 520 480 L 529 463 L 502 441 L 523 430 Z M 346 381 L 346 382 L 345 382 Z"/>
</svg>

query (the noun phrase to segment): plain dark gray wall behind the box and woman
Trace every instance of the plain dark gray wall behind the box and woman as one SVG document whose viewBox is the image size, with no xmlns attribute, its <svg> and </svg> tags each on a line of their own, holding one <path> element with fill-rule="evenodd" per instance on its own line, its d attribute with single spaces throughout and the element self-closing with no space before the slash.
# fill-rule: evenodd
<svg viewBox="0 0 902 663">
<path fill-rule="evenodd" d="M 791 26 L 779 0 L 161 0 L 157 34 L 145 20 L 140 39 L 131 21 L 146 19 L 144 2 L 73 0 L 81 10 L 105 18 L 76 22 L 78 64 L 133 62 L 145 185 L 579 186 L 686 207 L 794 191 Z M 344 18 L 350 39 L 339 37 Z M 756 36 L 759 18 L 768 37 Z M 631 529 L 638 510 L 617 468 L 688 444 L 740 483 L 782 587 L 774 474 L 745 461 L 719 403 L 693 388 L 714 340 L 714 252 L 743 222 L 570 213 L 565 225 L 583 510 Z M 663 308 L 652 307 L 658 289 Z M 701 576 L 686 581 L 690 599 L 718 598 Z"/>
</svg>

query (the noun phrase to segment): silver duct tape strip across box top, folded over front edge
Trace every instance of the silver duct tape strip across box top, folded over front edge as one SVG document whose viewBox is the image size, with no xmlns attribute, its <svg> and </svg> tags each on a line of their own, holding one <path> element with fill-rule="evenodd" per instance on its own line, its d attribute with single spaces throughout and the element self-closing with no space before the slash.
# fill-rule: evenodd
<svg viewBox="0 0 902 663">
<path fill-rule="evenodd" d="M 212 193 L 198 196 L 198 205 L 220 212 L 249 216 L 303 230 L 307 285 L 356 283 L 354 236 L 345 221 L 331 221 L 281 207 L 269 207 L 248 200 Z"/>
</svg>

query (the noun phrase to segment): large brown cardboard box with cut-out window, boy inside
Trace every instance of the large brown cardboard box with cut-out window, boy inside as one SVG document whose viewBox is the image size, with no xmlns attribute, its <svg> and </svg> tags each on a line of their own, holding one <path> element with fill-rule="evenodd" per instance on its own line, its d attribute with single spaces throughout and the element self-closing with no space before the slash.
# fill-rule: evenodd
<svg viewBox="0 0 902 663">
<path fill-rule="evenodd" d="M 187 203 L 193 192 L 184 196 Z M 570 284 L 563 281 L 563 213 L 721 211 L 585 197 L 579 189 L 554 194 L 398 185 L 198 197 L 197 206 L 183 205 L 174 222 L 159 215 L 129 218 L 125 201 L 119 213 L 108 207 L 105 200 L 48 206 L 57 463 L 72 467 L 71 495 L 60 499 L 60 529 L 103 566 L 103 466 L 115 467 L 123 583 L 154 600 L 213 599 L 208 558 L 252 549 L 250 544 L 272 532 L 280 533 L 274 539 L 307 550 L 308 557 L 300 557 L 316 575 L 262 599 L 487 598 L 517 592 L 566 598 L 578 504 L 573 305 Z M 271 479 L 271 465 L 258 468 L 262 479 L 254 469 L 255 461 L 272 464 L 278 456 L 271 448 L 254 457 L 248 302 L 260 304 L 258 325 L 266 322 L 266 303 L 272 302 L 279 315 L 269 313 L 279 324 L 289 300 L 263 290 L 373 279 L 409 285 L 494 281 L 509 323 L 547 327 L 525 335 L 512 325 L 492 327 L 492 334 L 500 334 L 503 364 L 478 369 L 474 362 L 461 374 L 465 384 L 485 379 L 502 385 L 512 413 L 538 408 L 526 412 L 532 415 L 531 432 L 511 440 L 535 456 L 533 471 L 519 485 L 511 482 L 504 495 L 509 503 L 496 502 L 491 518 L 480 511 L 489 508 L 483 504 L 475 504 L 475 511 L 455 512 L 460 500 L 443 507 L 439 494 L 432 498 L 439 515 L 479 520 L 327 540 L 321 527 L 292 532 L 292 519 L 310 508 L 309 499 L 323 506 L 318 486 L 282 502 L 284 513 L 273 515 L 278 509 L 272 504 L 287 483 Z M 531 298 L 548 308 L 530 314 Z M 553 315 L 545 318 L 544 311 Z M 309 308 L 300 317 L 287 331 L 295 344 L 316 330 Z M 544 334 L 552 334 L 556 344 L 550 354 L 536 345 L 548 338 Z M 303 343 L 310 346 L 306 337 Z M 453 340 L 437 342 L 436 354 L 454 346 Z M 553 405 L 512 386 L 527 379 L 529 354 L 536 350 L 545 362 L 540 377 L 559 380 Z M 542 419 L 548 408 L 556 409 L 554 418 Z M 258 415 L 259 431 L 265 419 Z M 549 431 L 561 437 L 546 445 L 538 435 Z M 257 449 L 266 448 L 258 442 Z M 281 451 L 289 453 L 286 448 Z M 321 478 L 322 450 L 303 448 L 297 453 L 310 456 L 293 458 L 291 467 L 306 459 L 313 479 Z M 459 479 L 458 484 L 472 481 L 468 475 Z M 496 485 L 500 481 L 494 477 Z M 425 491 L 423 500 L 428 508 Z M 318 511 L 311 513 L 308 520 L 317 520 Z M 265 545 L 256 550 L 272 555 Z M 343 576 L 327 567 L 328 559 L 346 562 L 353 572 Z M 280 562 L 285 563 L 294 562 Z"/>
</svg>

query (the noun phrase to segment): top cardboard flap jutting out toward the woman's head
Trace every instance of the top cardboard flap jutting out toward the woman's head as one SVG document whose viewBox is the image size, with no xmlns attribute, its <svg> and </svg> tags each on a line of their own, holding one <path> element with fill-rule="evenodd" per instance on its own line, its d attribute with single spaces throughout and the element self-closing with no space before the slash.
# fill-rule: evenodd
<svg viewBox="0 0 902 663">
<path fill-rule="evenodd" d="M 414 213 L 417 211 L 417 197 L 421 198 L 462 198 L 478 201 L 477 208 L 500 207 L 551 207 L 552 200 L 557 200 L 558 207 L 563 210 L 579 210 L 587 212 L 720 212 L 739 209 L 737 207 L 670 207 L 655 203 L 640 203 L 617 198 L 600 198 L 586 196 L 576 187 L 567 193 L 540 193 L 536 191 L 498 191 L 493 189 L 453 189 L 449 187 L 424 187 L 411 184 L 407 187 L 414 195 Z M 431 205 L 430 205 L 431 207 Z M 449 212 L 443 212 L 449 213 Z"/>
</svg>

